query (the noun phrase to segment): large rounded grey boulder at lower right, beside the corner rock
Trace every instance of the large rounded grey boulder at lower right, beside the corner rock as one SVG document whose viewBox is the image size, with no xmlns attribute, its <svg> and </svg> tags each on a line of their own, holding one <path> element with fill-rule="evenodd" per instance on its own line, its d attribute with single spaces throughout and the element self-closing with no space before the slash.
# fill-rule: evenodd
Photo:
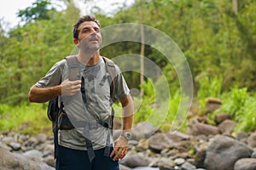
<svg viewBox="0 0 256 170">
<path fill-rule="evenodd" d="M 227 136 L 216 136 L 211 139 L 204 165 L 207 170 L 232 170 L 235 162 L 250 157 L 253 150 L 246 144 Z"/>
</svg>

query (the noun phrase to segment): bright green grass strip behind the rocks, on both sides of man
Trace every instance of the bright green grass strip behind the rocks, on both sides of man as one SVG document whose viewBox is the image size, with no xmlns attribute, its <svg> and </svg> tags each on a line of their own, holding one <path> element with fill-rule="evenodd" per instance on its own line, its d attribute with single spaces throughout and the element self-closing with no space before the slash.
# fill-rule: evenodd
<svg viewBox="0 0 256 170">
<path fill-rule="evenodd" d="M 150 94 L 152 89 L 148 91 Z M 206 96 L 201 96 L 201 100 Z M 220 95 L 223 105 L 212 115 L 218 112 L 228 113 L 237 123 L 237 132 L 252 132 L 256 129 L 255 97 L 256 94 L 248 93 L 247 88 L 231 88 L 230 92 Z M 178 92 L 173 94 L 169 101 L 161 101 L 159 105 L 154 104 L 152 95 L 144 95 L 142 99 L 134 99 L 134 123 L 146 121 L 151 122 L 164 132 L 177 129 L 185 133 L 187 128 L 186 113 L 181 111 L 177 114 L 180 102 Z M 115 116 L 120 117 L 121 105 L 115 104 L 113 107 Z M 47 116 L 47 104 L 0 105 L 0 132 L 6 131 L 26 134 L 52 134 L 51 122 Z"/>
</svg>

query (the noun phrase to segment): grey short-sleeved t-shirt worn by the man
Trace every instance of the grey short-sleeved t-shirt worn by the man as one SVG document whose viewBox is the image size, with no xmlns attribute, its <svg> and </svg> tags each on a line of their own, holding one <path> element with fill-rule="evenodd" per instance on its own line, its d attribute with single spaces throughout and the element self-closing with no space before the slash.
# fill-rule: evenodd
<svg viewBox="0 0 256 170">
<path fill-rule="evenodd" d="M 67 116 L 73 123 L 74 129 L 59 130 L 59 144 L 75 150 L 87 150 L 85 144 L 84 127 L 77 126 L 76 122 L 96 122 L 108 118 L 111 114 L 110 82 L 106 78 L 109 76 L 106 65 L 101 58 L 96 65 L 83 65 L 79 63 L 80 71 L 78 76 L 84 78 L 85 100 L 84 105 L 81 92 L 73 96 L 61 96 Z M 117 71 L 115 97 L 122 99 L 129 94 L 129 88 L 122 76 L 119 67 L 115 65 Z M 68 68 L 66 59 L 57 62 L 43 77 L 36 83 L 37 87 L 53 87 L 68 78 Z M 90 128 L 90 140 L 94 150 L 106 146 L 108 131 L 106 127 Z M 111 140 L 112 142 L 112 140 Z"/>
</svg>

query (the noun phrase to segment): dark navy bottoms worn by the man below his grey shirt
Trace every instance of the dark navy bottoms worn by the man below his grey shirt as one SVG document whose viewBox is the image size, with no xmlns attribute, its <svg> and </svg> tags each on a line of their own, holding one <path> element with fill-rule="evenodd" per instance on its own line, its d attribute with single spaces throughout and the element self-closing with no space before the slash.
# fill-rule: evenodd
<svg viewBox="0 0 256 170">
<path fill-rule="evenodd" d="M 104 156 L 104 150 L 104 148 L 94 150 L 96 157 L 90 162 L 86 150 L 73 150 L 59 146 L 56 170 L 119 170 L 118 161 L 113 161 L 110 156 Z M 113 148 L 110 152 L 112 150 Z"/>
</svg>

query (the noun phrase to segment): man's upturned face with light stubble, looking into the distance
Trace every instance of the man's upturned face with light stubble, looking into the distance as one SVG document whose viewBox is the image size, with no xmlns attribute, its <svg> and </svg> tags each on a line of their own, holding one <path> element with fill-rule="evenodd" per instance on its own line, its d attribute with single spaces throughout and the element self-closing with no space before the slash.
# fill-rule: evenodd
<svg viewBox="0 0 256 170">
<path fill-rule="evenodd" d="M 94 21 L 85 21 L 79 26 L 78 47 L 84 51 L 101 48 L 101 28 Z"/>
</svg>

